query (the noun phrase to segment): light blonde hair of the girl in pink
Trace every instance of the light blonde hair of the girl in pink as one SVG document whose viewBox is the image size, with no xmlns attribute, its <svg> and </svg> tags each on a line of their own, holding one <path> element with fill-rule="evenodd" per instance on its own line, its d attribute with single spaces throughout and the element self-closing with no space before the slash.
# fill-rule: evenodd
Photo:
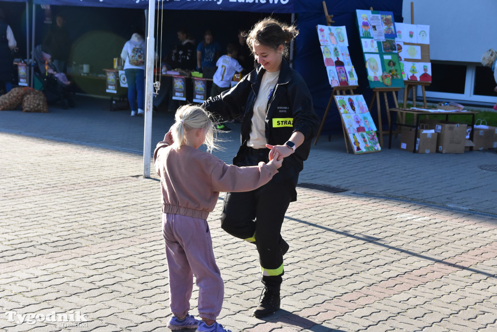
<svg viewBox="0 0 497 332">
<path fill-rule="evenodd" d="M 197 105 L 184 105 L 181 106 L 174 115 L 174 124 L 171 126 L 170 131 L 174 143 L 172 146 L 181 147 L 188 145 L 188 138 L 186 131 L 191 129 L 205 128 L 205 141 L 207 151 L 219 149 L 217 145 L 217 132 L 213 126 L 212 115 Z"/>
</svg>

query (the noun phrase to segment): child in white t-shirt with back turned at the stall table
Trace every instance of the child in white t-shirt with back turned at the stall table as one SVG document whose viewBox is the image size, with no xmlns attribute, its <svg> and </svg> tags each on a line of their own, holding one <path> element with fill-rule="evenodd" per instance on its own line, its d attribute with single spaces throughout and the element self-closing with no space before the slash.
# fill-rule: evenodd
<svg viewBox="0 0 497 332">
<path fill-rule="evenodd" d="M 240 63 L 235 59 L 238 53 L 237 46 L 228 44 L 226 50 L 228 54 L 223 55 L 216 62 L 218 69 L 212 78 L 211 97 L 220 95 L 223 91 L 230 89 L 233 75 L 244 70 Z"/>
</svg>

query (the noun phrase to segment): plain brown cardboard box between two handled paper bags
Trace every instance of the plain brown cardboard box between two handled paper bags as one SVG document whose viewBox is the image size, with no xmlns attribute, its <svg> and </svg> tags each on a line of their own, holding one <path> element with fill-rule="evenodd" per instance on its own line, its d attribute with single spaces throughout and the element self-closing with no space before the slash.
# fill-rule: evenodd
<svg viewBox="0 0 497 332">
<path fill-rule="evenodd" d="M 464 153 L 467 124 L 439 123 L 435 125 L 437 152 Z"/>
</svg>

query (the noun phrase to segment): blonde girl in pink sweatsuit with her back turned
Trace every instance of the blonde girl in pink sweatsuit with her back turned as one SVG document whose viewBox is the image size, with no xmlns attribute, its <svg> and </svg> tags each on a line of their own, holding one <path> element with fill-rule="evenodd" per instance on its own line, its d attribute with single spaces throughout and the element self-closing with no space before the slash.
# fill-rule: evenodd
<svg viewBox="0 0 497 332">
<path fill-rule="evenodd" d="M 219 192 L 249 191 L 271 180 L 282 159 L 253 167 L 226 165 L 210 153 L 198 150 L 205 143 L 216 148 L 209 114 L 198 106 L 182 106 L 175 123 L 157 144 L 154 162 L 161 177 L 163 234 L 169 271 L 171 330 L 227 331 L 216 322 L 223 305 L 224 285 L 212 250 L 207 224 Z M 199 322 L 188 315 L 193 275 L 199 287 Z"/>
</svg>

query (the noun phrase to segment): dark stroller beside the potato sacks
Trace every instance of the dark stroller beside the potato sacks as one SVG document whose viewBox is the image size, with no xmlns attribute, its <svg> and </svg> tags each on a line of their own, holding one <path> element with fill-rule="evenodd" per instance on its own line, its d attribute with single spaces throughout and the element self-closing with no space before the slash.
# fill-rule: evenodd
<svg viewBox="0 0 497 332">
<path fill-rule="evenodd" d="M 57 73 L 57 69 L 51 62 L 51 56 L 46 51 L 42 50 L 42 46 L 38 45 L 33 50 L 34 58 L 34 76 L 40 89 L 47 99 L 49 105 L 57 102 L 61 103 L 62 109 L 74 107 L 73 84 L 69 82 L 63 73 Z M 36 84 L 35 84 L 36 87 Z"/>
</svg>

